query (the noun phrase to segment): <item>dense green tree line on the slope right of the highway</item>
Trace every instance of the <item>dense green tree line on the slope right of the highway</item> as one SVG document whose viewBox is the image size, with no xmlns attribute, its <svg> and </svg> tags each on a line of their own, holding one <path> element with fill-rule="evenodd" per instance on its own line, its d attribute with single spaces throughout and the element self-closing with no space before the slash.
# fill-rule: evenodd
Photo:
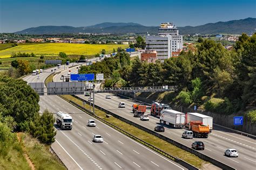
<svg viewBox="0 0 256 170">
<path fill-rule="evenodd" d="M 255 33 L 242 34 L 232 51 L 213 40 L 200 40 L 194 51 L 163 63 L 130 61 L 129 54 L 118 53 L 82 67 L 80 73 L 105 73 L 105 86 L 178 86 L 173 101 L 231 114 L 256 104 L 255 40 Z"/>
</svg>

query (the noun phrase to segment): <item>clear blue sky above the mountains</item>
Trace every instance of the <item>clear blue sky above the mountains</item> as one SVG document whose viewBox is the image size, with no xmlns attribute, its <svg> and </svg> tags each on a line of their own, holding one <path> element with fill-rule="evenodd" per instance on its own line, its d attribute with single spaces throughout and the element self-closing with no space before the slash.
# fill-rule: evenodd
<svg viewBox="0 0 256 170">
<path fill-rule="evenodd" d="M 0 32 L 42 25 L 89 26 L 103 22 L 134 22 L 176 26 L 256 18 L 252 0 L 0 0 Z"/>
</svg>

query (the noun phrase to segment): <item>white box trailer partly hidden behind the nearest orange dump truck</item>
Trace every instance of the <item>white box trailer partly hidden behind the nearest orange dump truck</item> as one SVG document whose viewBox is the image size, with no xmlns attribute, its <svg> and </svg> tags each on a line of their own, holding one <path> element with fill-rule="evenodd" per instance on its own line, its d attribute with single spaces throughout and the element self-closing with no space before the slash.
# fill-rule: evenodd
<svg viewBox="0 0 256 170">
<path fill-rule="evenodd" d="M 209 125 L 210 131 L 212 131 L 212 117 L 210 116 L 193 112 L 186 113 L 186 125 L 188 125 L 188 123 L 191 121 L 200 121 L 205 126 Z"/>
</svg>

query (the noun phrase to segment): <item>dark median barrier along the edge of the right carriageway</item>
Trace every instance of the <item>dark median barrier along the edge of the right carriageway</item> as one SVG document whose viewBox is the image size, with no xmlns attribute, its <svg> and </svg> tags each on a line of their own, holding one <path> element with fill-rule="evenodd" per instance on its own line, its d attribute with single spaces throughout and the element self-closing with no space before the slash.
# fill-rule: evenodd
<svg viewBox="0 0 256 170">
<path fill-rule="evenodd" d="M 72 96 L 78 98 L 79 100 L 81 100 L 81 101 L 83 101 L 83 102 L 85 102 L 85 103 L 87 103 L 87 104 L 89 103 L 88 101 L 84 100 L 83 98 L 80 98 L 80 97 L 75 96 L 75 95 L 72 95 Z M 99 107 L 99 106 L 96 105 L 96 104 L 95 104 L 95 108 L 97 108 L 97 109 L 99 109 L 99 110 L 102 110 L 102 111 L 106 112 L 106 114 L 110 114 L 110 115 L 112 115 L 113 117 L 118 118 L 118 119 L 120 119 L 121 121 L 123 121 L 123 122 L 125 122 L 125 123 L 128 123 L 128 124 L 130 124 L 130 125 L 133 125 L 133 126 L 135 126 L 136 128 L 139 128 L 139 129 L 144 130 L 144 131 L 146 131 L 146 132 L 148 132 L 148 133 L 150 133 L 150 134 L 153 134 L 154 136 L 156 136 L 156 137 L 158 137 L 158 138 L 160 138 L 160 139 L 163 139 L 163 140 L 167 141 L 168 143 L 173 144 L 173 145 L 175 145 L 175 146 L 177 146 L 177 147 L 179 147 L 179 148 L 181 148 L 181 149 L 183 149 L 183 150 L 185 150 L 185 151 L 187 151 L 187 152 L 190 152 L 190 153 L 192 153 L 192 154 L 194 154 L 194 155 L 197 155 L 199 158 L 201 158 L 201 159 L 203 159 L 203 160 L 205 160 L 205 161 L 211 162 L 211 163 L 212 163 L 213 165 L 215 165 L 215 166 L 218 166 L 218 167 L 220 167 L 220 168 L 222 168 L 222 169 L 235 169 L 235 168 L 233 168 L 233 167 L 231 167 L 231 166 L 228 166 L 228 165 L 224 164 L 224 163 L 221 162 L 221 161 L 218 161 L 218 160 L 216 160 L 216 159 L 214 159 L 214 158 L 211 158 L 211 157 L 209 157 L 209 156 L 207 156 L 207 155 L 205 155 L 205 154 L 203 154 L 203 153 L 200 153 L 200 152 L 194 150 L 193 148 L 187 147 L 187 146 L 185 146 L 185 145 L 179 143 L 178 141 L 175 141 L 175 140 L 173 140 L 173 139 L 170 139 L 170 138 L 168 138 L 168 137 L 166 137 L 166 136 L 163 136 L 162 134 L 159 134 L 159 133 L 157 133 L 157 132 L 155 132 L 155 131 L 153 131 L 153 130 L 147 129 L 147 128 L 145 128 L 145 127 L 142 126 L 142 125 L 139 125 L 139 124 L 137 124 L 137 123 L 134 123 L 134 122 L 132 122 L 132 121 L 126 119 L 126 118 L 123 118 L 123 117 L 119 116 L 119 115 L 116 115 L 116 114 L 114 114 L 113 112 L 111 112 L 111 111 L 109 111 L 109 110 L 106 110 L 106 109 L 104 109 L 104 108 L 101 108 L 101 107 Z"/>
</svg>

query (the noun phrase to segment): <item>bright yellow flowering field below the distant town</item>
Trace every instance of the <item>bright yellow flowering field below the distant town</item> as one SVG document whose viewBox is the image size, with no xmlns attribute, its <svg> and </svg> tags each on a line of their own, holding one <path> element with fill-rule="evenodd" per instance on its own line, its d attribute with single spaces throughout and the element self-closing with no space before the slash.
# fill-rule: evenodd
<svg viewBox="0 0 256 170">
<path fill-rule="evenodd" d="M 16 47 L 0 51 L 0 58 L 9 58 L 12 53 L 34 53 L 36 55 L 58 55 L 59 52 L 77 55 L 95 55 L 101 53 L 102 49 L 106 53 L 111 53 L 113 48 L 126 48 L 128 45 L 99 45 L 99 44 L 68 44 L 68 43 L 45 43 L 32 45 L 18 45 Z"/>
</svg>

